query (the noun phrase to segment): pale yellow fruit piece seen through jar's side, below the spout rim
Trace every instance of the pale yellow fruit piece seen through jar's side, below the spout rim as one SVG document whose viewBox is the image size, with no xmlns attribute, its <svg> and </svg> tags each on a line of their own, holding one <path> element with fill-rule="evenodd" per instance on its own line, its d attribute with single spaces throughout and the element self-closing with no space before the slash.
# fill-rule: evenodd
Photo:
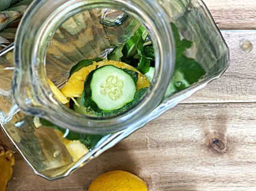
<svg viewBox="0 0 256 191">
<path fill-rule="evenodd" d="M 70 141 L 66 138 L 63 138 L 63 133 L 59 130 L 55 130 L 55 132 L 57 133 L 63 145 L 65 145 L 74 162 L 83 157 L 84 154 L 89 153 L 88 148 L 80 141 Z"/>
</svg>

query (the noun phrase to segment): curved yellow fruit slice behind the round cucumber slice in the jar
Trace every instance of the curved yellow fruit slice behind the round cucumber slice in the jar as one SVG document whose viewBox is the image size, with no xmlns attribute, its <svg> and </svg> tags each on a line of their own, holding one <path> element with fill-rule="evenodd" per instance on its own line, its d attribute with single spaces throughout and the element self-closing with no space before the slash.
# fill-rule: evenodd
<svg viewBox="0 0 256 191">
<path fill-rule="evenodd" d="M 86 76 L 97 67 L 102 67 L 104 65 L 114 65 L 117 68 L 126 68 L 128 70 L 133 70 L 139 73 L 139 79 L 136 85 L 137 91 L 150 85 L 146 77 L 133 66 L 125 64 L 124 62 L 104 59 L 103 61 L 94 62 L 92 65 L 81 68 L 81 70 L 73 73 L 70 76 L 69 80 L 66 82 L 65 86 L 61 89 L 63 95 L 66 97 L 81 97 L 84 89 L 84 81 L 86 80 Z"/>
</svg>

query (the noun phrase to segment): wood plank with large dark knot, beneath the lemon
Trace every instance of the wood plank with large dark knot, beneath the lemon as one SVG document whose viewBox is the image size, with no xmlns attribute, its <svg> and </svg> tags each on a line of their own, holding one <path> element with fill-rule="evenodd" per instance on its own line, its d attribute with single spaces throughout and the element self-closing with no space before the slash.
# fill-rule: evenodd
<svg viewBox="0 0 256 191">
<path fill-rule="evenodd" d="M 87 190 L 114 169 L 149 190 L 256 190 L 255 114 L 251 103 L 179 105 L 61 180 L 37 177 L 17 156 L 8 190 Z"/>
</svg>

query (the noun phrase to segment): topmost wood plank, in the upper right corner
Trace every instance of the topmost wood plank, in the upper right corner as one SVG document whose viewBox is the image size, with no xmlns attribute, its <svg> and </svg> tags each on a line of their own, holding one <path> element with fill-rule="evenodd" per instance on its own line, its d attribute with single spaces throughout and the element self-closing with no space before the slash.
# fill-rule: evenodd
<svg viewBox="0 0 256 191">
<path fill-rule="evenodd" d="M 256 29 L 255 0 L 204 0 L 220 29 Z"/>
</svg>

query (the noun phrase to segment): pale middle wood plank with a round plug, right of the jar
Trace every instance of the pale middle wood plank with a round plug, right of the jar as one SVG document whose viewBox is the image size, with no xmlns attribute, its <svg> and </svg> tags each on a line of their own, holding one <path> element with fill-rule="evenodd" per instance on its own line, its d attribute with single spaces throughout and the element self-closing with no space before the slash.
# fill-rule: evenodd
<svg viewBox="0 0 256 191">
<path fill-rule="evenodd" d="M 185 103 L 256 101 L 256 31 L 222 31 L 222 34 L 230 49 L 228 70 Z M 251 52 L 241 49 L 244 41 L 252 43 Z"/>
</svg>

